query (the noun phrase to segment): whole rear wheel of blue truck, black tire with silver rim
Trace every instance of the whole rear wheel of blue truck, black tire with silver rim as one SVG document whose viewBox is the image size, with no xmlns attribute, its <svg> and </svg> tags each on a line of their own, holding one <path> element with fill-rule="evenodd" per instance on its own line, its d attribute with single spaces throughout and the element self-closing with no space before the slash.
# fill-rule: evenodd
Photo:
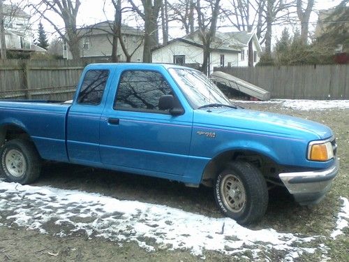
<svg viewBox="0 0 349 262">
<path fill-rule="evenodd" d="M 0 149 L 0 173 L 8 182 L 29 184 L 40 176 L 41 159 L 29 140 L 13 139 Z"/>
</svg>

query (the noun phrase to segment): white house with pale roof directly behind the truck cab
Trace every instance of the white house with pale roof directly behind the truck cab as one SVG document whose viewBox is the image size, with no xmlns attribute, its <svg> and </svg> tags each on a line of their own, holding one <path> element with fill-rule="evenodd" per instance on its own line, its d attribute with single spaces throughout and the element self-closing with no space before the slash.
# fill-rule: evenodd
<svg viewBox="0 0 349 262">
<path fill-rule="evenodd" d="M 216 32 L 211 43 L 209 72 L 219 66 L 254 66 L 260 59 L 262 48 L 253 32 Z M 182 38 L 176 38 L 152 52 L 153 63 L 185 64 L 199 67 L 202 64 L 202 41 L 195 31 Z"/>
</svg>

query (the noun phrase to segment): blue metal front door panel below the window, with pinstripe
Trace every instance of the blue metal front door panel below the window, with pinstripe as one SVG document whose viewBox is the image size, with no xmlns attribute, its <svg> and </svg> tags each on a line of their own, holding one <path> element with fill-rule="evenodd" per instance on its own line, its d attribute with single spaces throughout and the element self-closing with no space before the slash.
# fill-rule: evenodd
<svg viewBox="0 0 349 262">
<path fill-rule="evenodd" d="M 109 124 L 109 118 L 119 124 Z M 186 116 L 106 110 L 101 122 L 105 164 L 184 175 L 191 142 Z"/>
</svg>

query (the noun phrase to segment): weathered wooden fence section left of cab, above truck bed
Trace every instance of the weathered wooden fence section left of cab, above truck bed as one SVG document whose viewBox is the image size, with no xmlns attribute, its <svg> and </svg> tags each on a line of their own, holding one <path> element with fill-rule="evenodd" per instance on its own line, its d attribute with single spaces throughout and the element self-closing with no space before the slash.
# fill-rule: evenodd
<svg viewBox="0 0 349 262">
<path fill-rule="evenodd" d="M 0 61 L 0 99 L 72 99 L 82 69 L 94 61 Z"/>
</svg>

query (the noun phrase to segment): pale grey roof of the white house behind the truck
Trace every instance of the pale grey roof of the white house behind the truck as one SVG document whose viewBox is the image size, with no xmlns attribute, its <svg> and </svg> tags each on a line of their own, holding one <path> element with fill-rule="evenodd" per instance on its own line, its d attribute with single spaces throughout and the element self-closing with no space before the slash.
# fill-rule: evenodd
<svg viewBox="0 0 349 262">
<path fill-rule="evenodd" d="M 228 51 L 228 52 L 240 52 L 242 48 L 246 48 L 248 43 L 251 41 L 251 38 L 255 38 L 255 41 L 258 45 L 258 51 L 261 52 L 260 44 L 258 43 L 258 38 L 255 33 L 241 31 L 241 32 L 228 32 L 222 33 L 216 31 L 216 36 L 214 41 L 211 43 L 211 48 L 214 50 Z M 174 43 L 175 41 L 180 41 L 183 43 L 188 43 L 191 45 L 198 46 L 202 48 L 202 41 L 198 37 L 198 30 L 194 31 L 191 34 L 188 34 L 181 38 L 176 38 L 168 43 Z M 164 45 L 159 46 L 156 49 L 163 48 Z"/>
</svg>

